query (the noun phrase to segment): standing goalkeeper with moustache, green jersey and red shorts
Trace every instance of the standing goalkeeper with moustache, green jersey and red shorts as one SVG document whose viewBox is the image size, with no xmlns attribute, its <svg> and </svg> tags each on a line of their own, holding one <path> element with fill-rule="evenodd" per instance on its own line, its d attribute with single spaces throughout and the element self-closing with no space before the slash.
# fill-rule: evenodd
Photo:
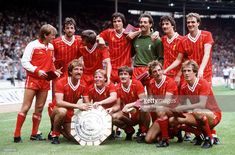
<svg viewBox="0 0 235 155">
<path fill-rule="evenodd" d="M 163 62 L 163 46 L 160 39 L 151 40 L 153 18 L 150 14 L 142 14 L 139 17 L 141 33 L 133 40 L 135 51 L 133 77 L 139 79 L 148 70 L 148 63 L 153 60 Z M 148 85 L 149 80 L 143 79 L 143 84 Z"/>
</svg>

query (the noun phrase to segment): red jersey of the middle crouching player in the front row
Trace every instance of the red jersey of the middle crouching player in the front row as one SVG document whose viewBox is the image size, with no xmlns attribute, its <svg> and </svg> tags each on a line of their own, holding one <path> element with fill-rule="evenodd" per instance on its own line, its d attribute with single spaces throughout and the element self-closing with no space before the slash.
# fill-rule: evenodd
<svg viewBox="0 0 235 155">
<path fill-rule="evenodd" d="M 117 85 L 117 96 L 121 99 L 122 105 L 135 102 L 139 99 L 138 95 L 144 93 L 144 87 L 138 80 L 132 79 L 128 88 L 121 83 Z"/>
</svg>

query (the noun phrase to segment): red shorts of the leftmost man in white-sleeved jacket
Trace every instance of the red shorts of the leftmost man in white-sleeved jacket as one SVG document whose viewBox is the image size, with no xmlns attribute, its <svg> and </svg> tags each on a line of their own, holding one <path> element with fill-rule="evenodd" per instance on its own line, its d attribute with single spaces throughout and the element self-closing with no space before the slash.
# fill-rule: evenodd
<svg viewBox="0 0 235 155">
<path fill-rule="evenodd" d="M 32 76 L 27 76 L 25 88 L 33 90 L 48 91 L 50 90 L 50 81 Z"/>
</svg>

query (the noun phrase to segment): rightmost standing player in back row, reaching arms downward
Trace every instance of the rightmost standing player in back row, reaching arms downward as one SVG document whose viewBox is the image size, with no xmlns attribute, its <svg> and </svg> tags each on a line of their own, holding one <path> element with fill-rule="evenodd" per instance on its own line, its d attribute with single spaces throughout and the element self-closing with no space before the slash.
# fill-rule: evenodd
<svg viewBox="0 0 235 155">
<path fill-rule="evenodd" d="M 200 66 L 197 76 L 206 79 L 210 84 L 212 82 L 212 45 L 214 40 L 211 32 L 200 30 L 201 24 L 200 15 L 197 13 L 189 13 L 186 16 L 187 27 L 189 34 L 187 34 L 183 41 L 183 52 L 188 59 L 196 61 Z M 183 54 L 178 55 L 174 63 L 169 66 L 165 72 L 170 71 L 180 64 Z"/>
</svg>

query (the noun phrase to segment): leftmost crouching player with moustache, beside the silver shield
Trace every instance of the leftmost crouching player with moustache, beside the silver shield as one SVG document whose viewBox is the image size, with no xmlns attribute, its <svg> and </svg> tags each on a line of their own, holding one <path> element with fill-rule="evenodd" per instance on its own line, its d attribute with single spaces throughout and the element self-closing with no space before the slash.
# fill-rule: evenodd
<svg viewBox="0 0 235 155">
<path fill-rule="evenodd" d="M 68 77 L 64 77 L 56 82 L 55 98 L 50 104 L 50 117 L 53 122 L 52 144 L 60 144 L 59 136 L 62 133 L 68 140 L 74 141 L 71 136 L 71 118 L 74 115 L 74 109 L 88 110 L 91 106 L 86 86 L 81 81 L 83 73 L 83 62 L 74 59 L 68 65 Z M 83 96 L 84 103 L 77 104 L 79 98 Z"/>
</svg>

